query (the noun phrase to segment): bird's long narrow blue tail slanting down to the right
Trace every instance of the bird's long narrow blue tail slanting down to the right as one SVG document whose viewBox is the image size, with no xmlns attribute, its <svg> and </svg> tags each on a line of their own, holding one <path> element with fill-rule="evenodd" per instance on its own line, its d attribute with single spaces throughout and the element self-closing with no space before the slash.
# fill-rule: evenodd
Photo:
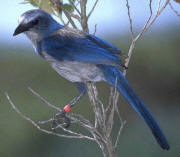
<svg viewBox="0 0 180 157">
<path fill-rule="evenodd" d="M 142 119 L 146 122 L 146 124 L 151 129 L 154 137 L 157 142 L 163 149 L 169 149 L 169 144 L 159 127 L 158 123 L 150 113 L 149 109 L 145 106 L 145 104 L 141 101 L 141 99 L 137 96 L 137 94 L 130 87 L 128 81 L 123 76 L 122 72 L 114 67 L 109 65 L 98 65 L 98 67 L 102 70 L 105 76 L 105 81 L 109 84 L 116 86 L 119 92 L 126 98 L 129 104 L 134 108 L 134 110 L 142 117 Z M 117 80 L 117 81 L 116 81 Z"/>
</svg>

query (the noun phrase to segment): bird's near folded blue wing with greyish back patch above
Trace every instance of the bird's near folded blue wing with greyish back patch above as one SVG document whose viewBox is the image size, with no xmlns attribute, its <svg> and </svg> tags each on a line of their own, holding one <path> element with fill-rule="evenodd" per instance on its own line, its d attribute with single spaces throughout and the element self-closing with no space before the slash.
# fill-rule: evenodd
<svg viewBox="0 0 180 157">
<path fill-rule="evenodd" d="M 113 53 L 90 40 L 85 33 L 63 28 L 41 42 L 41 50 L 59 61 L 123 66 Z"/>
</svg>

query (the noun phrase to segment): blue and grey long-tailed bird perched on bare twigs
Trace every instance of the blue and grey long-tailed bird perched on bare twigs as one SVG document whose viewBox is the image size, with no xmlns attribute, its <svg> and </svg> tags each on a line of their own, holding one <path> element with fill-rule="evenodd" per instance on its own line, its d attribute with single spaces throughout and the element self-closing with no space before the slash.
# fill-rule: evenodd
<svg viewBox="0 0 180 157">
<path fill-rule="evenodd" d="M 41 9 L 28 10 L 18 19 L 13 36 L 24 33 L 32 42 L 35 52 L 45 59 L 62 77 L 76 84 L 76 96 L 56 118 L 64 117 L 87 92 L 86 83 L 104 81 L 124 96 L 145 121 L 162 149 L 170 148 L 158 122 L 150 110 L 131 88 L 123 75 L 125 67 L 118 55 L 122 51 L 95 35 L 59 24 Z"/>
</svg>

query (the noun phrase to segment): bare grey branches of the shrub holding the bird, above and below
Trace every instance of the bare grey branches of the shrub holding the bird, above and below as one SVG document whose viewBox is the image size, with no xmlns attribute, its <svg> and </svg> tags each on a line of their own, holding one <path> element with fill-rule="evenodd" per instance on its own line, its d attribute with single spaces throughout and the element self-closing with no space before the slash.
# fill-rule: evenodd
<svg viewBox="0 0 180 157">
<path fill-rule="evenodd" d="M 86 5 L 88 0 L 78 0 L 77 4 L 75 4 L 75 1 L 70 1 L 71 5 L 74 7 L 75 11 L 78 15 L 71 13 L 67 11 L 61 2 L 59 0 L 50 0 L 53 4 L 53 7 L 56 7 L 63 11 L 64 15 L 68 19 L 67 24 L 71 24 L 72 27 L 77 28 L 76 23 L 74 22 L 74 19 L 76 19 L 80 24 L 84 32 L 89 32 L 88 27 L 88 19 L 92 15 L 95 7 L 97 6 L 99 0 L 96 0 L 95 3 L 92 6 L 92 9 L 90 12 L 86 13 Z M 159 17 L 159 15 L 163 12 L 163 10 L 166 8 L 166 6 L 169 4 L 171 9 L 179 16 L 179 13 L 172 7 L 171 3 L 169 3 L 170 0 L 166 0 L 164 4 L 162 4 L 161 0 L 157 0 L 157 9 L 155 11 L 155 15 L 153 16 L 152 11 L 152 1 L 149 0 L 149 16 L 147 21 L 145 22 L 144 26 L 142 27 L 141 31 L 135 35 L 133 31 L 133 20 L 131 16 L 131 8 L 129 0 L 126 1 L 126 8 L 127 8 L 127 15 L 129 20 L 129 30 L 131 35 L 131 44 L 129 47 L 128 52 L 128 58 L 125 62 L 125 66 L 128 67 L 131 56 L 133 54 L 136 42 L 138 39 L 140 39 L 144 33 L 151 27 L 151 25 L 156 21 L 156 19 Z M 80 10 L 78 9 L 80 8 Z M 59 16 L 63 24 L 65 24 L 64 19 Z M 96 25 L 95 25 L 95 31 L 96 33 Z M 126 75 L 127 70 L 124 69 L 123 73 Z M 116 84 L 115 84 L 116 85 Z M 41 132 L 55 135 L 58 137 L 65 137 L 65 138 L 78 138 L 78 139 L 87 139 L 91 140 L 97 143 L 99 148 L 102 151 L 102 154 L 104 157 L 115 157 L 116 156 L 116 149 L 118 146 L 118 142 L 120 139 L 120 135 L 122 133 L 122 130 L 124 128 L 124 125 L 126 124 L 126 121 L 123 121 L 121 118 L 121 115 L 119 113 L 118 109 L 118 97 L 119 93 L 117 92 L 116 88 L 112 88 L 110 90 L 109 94 L 109 103 L 105 105 L 101 102 L 101 100 L 98 97 L 98 91 L 96 89 L 96 86 L 93 83 L 87 83 L 88 88 L 88 95 L 90 99 L 90 104 L 92 106 L 92 110 L 94 113 L 94 121 L 90 121 L 86 118 L 84 118 L 82 115 L 79 114 L 69 114 L 68 117 L 71 119 L 72 123 L 75 123 L 76 125 L 79 125 L 81 128 L 87 130 L 87 134 L 82 134 L 80 132 L 73 131 L 73 128 L 67 129 L 64 128 L 63 125 L 58 125 L 56 129 L 60 129 L 61 133 L 53 132 L 51 130 L 44 129 L 43 126 L 45 124 L 51 123 L 54 119 L 50 118 L 49 120 L 43 120 L 40 122 L 35 122 L 28 116 L 24 115 L 13 103 L 12 99 L 8 95 L 8 93 L 5 93 L 6 98 L 8 99 L 9 103 L 11 104 L 12 108 L 25 120 L 30 122 L 33 126 L 35 126 L 38 130 Z M 32 88 L 28 88 L 31 93 L 33 93 L 38 99 L 40 99 L 42 102 L 44 102 L 46 105 L 48 105 L 49 108 L 56 110 L 57 112 L 60 112 L 61 109 L 56 107 L 55 105 L 48 102 L 45 98 L 40 96 L 39 93 L 34 91 Z M 117 116 L 119 120 L 119 130 L 116 135 L 115 141 L 112 140 L 111 136 L 113 133 L 114 128 L 114 117 Z M 63 132 L 62 132 L 63 131 Z"/>
</svg>

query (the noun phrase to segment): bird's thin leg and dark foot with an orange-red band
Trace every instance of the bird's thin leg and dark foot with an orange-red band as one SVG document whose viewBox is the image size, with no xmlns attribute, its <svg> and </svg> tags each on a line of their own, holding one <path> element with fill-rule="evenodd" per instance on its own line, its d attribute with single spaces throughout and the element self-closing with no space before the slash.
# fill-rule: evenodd
<svg viewBox="0 0 180 157">
<path fill-rule="evenodd" d="M 79 95 L 76 96 L 68 105 L 66 105 L 63 110 L 59 113 L 57 113 L 54 116 L 53 122 L 52 122 L 52 130 L 55 131 L 55 128 L 58 125 L 64 124 L 65 128 L 68 128 L 71 125 L 71 120 L 69 117 L 66 116 L 66 113 L 68 113 L 71 108 L 85 95 L 86 93 L 86 86 L 84 83 L 76 83 L 77 88 L 79 91 Z"/>
</svg>

